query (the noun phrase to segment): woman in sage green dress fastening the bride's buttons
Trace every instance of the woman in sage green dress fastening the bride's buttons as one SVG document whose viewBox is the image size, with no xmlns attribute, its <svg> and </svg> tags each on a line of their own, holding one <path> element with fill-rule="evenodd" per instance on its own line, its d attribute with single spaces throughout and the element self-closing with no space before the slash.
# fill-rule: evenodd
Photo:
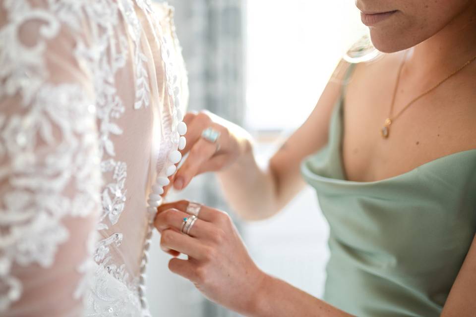
<svg viewBox="0 0 476 317">
<path fill-rule="evenodd" d="M 330 224 L 323 299 L 258 269 L 225 212 L 186 201 L 155 219 L 162 249 L 188 255 L 169 268 L 246 316 L 475 316 L 476 1 L 356 4 L 380 58 L 342 61 L 267 169 L 241 128 L 188 113 L 173 182 L 217 172 L 248 220 L 313 186 Z"/>
</svg>

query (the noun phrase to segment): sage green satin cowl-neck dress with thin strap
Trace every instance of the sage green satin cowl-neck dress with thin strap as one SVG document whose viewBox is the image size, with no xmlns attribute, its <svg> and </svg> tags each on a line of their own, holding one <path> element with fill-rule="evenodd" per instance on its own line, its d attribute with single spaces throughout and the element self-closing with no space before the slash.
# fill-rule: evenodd
<svg viewBox="0 0 476 317">
<path fill-rule="evenodd" d="M 348 181 L 343 96 L 327 146 L 301 165 L 330 225 L 323 299 L 361 317 L 439 316 L 476 232 L 476 150 L 381 181 Z"/>
</svg>

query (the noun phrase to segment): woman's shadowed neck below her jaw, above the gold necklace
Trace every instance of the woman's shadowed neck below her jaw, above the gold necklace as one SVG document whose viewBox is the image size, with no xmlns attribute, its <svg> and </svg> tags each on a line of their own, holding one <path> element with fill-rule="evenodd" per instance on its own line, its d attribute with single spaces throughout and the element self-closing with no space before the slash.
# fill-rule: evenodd
<svg viewBox="0 0 476 317">
<path fill-rule="evenodd" d="M 476 5 L 471 4 L 438 33 L 409 52 L 408 69 L 424 76 L 440 76 L 455 70 L 476 55 Z"/>
</svg>

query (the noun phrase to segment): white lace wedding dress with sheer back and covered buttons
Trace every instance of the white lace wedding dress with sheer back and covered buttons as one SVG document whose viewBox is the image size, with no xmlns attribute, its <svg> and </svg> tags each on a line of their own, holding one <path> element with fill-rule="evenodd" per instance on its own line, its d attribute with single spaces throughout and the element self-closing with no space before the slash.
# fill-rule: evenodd
<svg viewBox="0 0 476 317">
<path fill-rule="evenodd" d="M 148 316 L 159 194 L 186 131 L 173 11 L 0 0 L 0 316 Z"/>
</svg>

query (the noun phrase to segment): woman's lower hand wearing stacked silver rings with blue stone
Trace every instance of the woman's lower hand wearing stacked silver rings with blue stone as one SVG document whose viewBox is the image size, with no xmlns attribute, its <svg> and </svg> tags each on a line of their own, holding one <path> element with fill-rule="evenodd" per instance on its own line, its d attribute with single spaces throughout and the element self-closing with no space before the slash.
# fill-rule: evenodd
<svg viewBox="0 0 476 317">
<path fill-rule="evenodd" d="M 161 232 L 161 248 L 186 254 L 173 258 L 169 268 L 192 281 L 210 300 L 247 316 L 263 289 L 266 274 L 253 263 L 230 216 L 202 206 L 188 235 L 180 232 L 188 201 L 158 208 L 155 227 Z"/>
</svg>

